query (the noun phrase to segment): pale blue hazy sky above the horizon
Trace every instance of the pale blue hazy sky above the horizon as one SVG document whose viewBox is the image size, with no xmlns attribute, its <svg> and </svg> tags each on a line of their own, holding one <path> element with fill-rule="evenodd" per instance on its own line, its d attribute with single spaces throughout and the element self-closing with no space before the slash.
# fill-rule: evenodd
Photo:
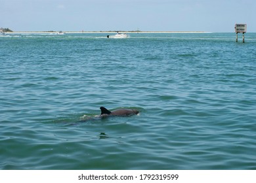
<svg viewBox="0 0 256 183">
<path fill-rule="evenodd" d="M 12 31 L 256 32 L 255 0 L 0 0 Z"/>
</svg>

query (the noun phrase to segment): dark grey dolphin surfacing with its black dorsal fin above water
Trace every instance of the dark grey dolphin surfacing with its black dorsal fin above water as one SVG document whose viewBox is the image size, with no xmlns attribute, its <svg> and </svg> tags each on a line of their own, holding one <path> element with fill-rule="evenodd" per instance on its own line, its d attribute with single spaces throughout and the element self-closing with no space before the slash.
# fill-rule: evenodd
<svg viewBox="0 0 256 183">
<path fill-rule="evenodd" d="M 132 116 L 135 114 L 139 114 L 139 110 L 131 109 L 131 108 L 119 108 L 117 110 L 110 111 L 105 107 L 100 107 L 101 113 L 100 116 Z"/>
</svg>

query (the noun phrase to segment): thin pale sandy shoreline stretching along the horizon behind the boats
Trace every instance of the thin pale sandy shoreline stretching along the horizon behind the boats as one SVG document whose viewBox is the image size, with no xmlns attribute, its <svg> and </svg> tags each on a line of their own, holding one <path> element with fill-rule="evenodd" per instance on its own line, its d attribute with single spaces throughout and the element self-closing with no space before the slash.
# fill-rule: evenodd
<svg viewBox="0 0 256 183">
<path fill-rule="evenodd" d="M 13 31 L 12 33 L 49 33 L 56 34 L 59 31 Z M 63 33 L 116 33 L 117 31 L 62 31 Z M 211 33 L 205 31 L 118 31 L 119 33 Z"/>
</svg>

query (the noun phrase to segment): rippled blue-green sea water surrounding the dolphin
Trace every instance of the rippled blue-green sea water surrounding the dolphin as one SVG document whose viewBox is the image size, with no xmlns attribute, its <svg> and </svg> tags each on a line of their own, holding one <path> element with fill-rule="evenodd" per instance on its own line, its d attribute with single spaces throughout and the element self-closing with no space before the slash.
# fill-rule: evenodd
<svg viewBox="0 0 256 183">
<path fill-rule="evenodd" d="M 0 37 L 0 169 L 256 169 L 256 33 L 241 37 Z"/>
</svg>

